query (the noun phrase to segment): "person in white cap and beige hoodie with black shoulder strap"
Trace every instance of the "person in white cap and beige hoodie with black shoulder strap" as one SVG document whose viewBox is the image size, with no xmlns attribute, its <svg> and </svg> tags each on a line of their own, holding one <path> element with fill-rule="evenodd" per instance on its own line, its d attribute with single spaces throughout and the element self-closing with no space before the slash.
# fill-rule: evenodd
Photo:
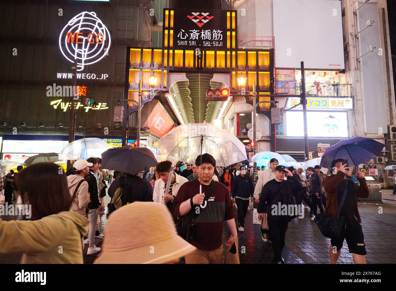
<svg viewBox="0 0 396 291">
<path fill-rule="evenodd" d="M 74 213 L 86 216 L 85 209 L 89 203 L 88 182 L 84 177 L 89 173 L 89 167 L 93 164 L 86 160 L 77 160 L 74 165 L 74 175 L 67 176 L 67 186 L 72 197 L 70 209 Z"/>
</svg>

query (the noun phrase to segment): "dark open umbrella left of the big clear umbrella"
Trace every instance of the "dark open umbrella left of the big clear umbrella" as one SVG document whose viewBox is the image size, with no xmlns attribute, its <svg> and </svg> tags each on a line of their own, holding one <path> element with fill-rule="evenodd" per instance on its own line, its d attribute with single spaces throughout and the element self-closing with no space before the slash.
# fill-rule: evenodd
<svg viewBox="0 0 396 291">
<path fill-rule="evenodd" d="M 102 168 L 135 175 L 158 164 L 148 148 L 123 146 L 109 148 L 102 153 Z"/>
</svg>

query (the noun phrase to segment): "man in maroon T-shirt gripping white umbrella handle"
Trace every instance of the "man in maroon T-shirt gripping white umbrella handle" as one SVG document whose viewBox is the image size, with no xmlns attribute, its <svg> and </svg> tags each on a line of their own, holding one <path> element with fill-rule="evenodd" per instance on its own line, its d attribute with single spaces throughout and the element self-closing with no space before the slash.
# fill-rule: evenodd
<svg viewBox="0 0 396 291">
<path fill-rule="evenodd" d="M 216 161 L 213 156 L 203 154 L 202 164 L 201 156 L 198 156 L 195 165 L 198 167 L 198 179 L 184 183 L 179 188 L 173 204 L 175 216 L 186 220 L 191 209 L 196 211 L 196 207 L 204 202 L 205 192 L 208 193 Z M 200 182 L 202 182 L 202 194 L 199 194 Z M 213 181 L 213 183 L 215 185 L 208 197 L 206 207 L 200 207 L 200 214 L 194 221 L 196 236 L 190 243 L 197 249 L 185 256 L 187 264 L 223 263 L 223 221 L 226 222 L 231 232 L 230 238 L 225 243 L 227 247 L 231 246 L 238 236 L 234 220 L 235 213 L 228 189 L 220 182 Z"/>
</svg>

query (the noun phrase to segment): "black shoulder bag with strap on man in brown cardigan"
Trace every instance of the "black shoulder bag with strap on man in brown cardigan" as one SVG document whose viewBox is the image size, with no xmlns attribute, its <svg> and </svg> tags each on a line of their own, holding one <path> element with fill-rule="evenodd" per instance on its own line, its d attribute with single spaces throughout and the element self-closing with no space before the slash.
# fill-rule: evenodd
<svg viewBox="0 0 396 291">
<path fill-rule="evenodd" d="M 314 221 L 318 224 L 320 232 L 322 232 L 326 238 L 338 238 L 340 236 L 345 220 L 344 215 L 341 215 L 340 212 L 345 202 L 346 192 L 348 192 L 348 185 L 345 185 L 343 198 L 341 199 L 340 205 L 338 205 L 338 211 L 335 217 L 330 213 L 319 213 L 315 215 Z"/>
</svg>

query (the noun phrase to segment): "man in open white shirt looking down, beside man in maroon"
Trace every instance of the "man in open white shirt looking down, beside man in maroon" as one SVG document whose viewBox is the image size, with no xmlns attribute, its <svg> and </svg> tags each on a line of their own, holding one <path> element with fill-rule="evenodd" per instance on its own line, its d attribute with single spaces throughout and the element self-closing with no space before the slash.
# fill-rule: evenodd
<svg viewBox="0 0 396 291">
<path fill-rule="evenodd" d="M 184 183 L 188 182 L 187 178 L 176 175 L 175 172 L 172 173 L 171 183 L 169 186 L 169 192 L 166 194 L 166 184 L 168 183 L 169 172 L 172 167 L 172 162 L 163 161 L 157 165 L 158 179 L 154 185 L 154 193 L 152 195 L 152 200 L 154 202 L 162 203 L 168 207 L 170 213 L 172 214 L 173 220 L 176 221 L 175 214 L 173 213 L 173 200 L 177 196 L 179 188 Z"/>
</svg>

